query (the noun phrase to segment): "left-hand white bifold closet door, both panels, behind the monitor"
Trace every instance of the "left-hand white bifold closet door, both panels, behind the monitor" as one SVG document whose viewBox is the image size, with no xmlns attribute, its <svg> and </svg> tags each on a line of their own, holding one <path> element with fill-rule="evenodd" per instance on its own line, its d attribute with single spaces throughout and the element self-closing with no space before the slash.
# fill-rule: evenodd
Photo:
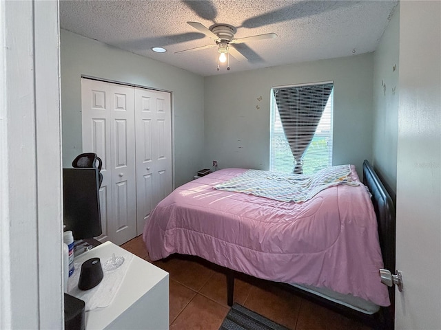
<svg viewBox="0 0 441 330">
<path fill-rule="evenodd" d="M 103 165 L 100 241 L 122 244 L 136 236 L 134 88 L 81 80 L 83 153 Z"/>
</svg>

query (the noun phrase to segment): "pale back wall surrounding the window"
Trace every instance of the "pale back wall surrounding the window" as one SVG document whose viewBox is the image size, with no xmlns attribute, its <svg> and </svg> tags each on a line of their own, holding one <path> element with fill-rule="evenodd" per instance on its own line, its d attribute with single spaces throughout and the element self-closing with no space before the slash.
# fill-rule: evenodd
<svg viewBox="0 0 441 330">
<path fill-rule="evenodd" d="M 271 87 L 332 80 L 333 164 L 360 174 L 372 157 L 372 79 L 373 54 L 206 77 L 204 165 L 268 170 Z"/>
</svg>

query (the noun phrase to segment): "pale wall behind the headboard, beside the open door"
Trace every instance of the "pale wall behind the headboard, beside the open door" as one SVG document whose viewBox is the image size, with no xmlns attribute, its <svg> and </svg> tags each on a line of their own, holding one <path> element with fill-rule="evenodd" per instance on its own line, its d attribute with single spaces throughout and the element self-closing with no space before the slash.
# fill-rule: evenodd
<svg viewBox="0 0 441 330">
<path fill-rule="evenodd" d="M 373 57 L 373 166 L 396 192 L 400 12 L 396 8 Z"/>
</svg>

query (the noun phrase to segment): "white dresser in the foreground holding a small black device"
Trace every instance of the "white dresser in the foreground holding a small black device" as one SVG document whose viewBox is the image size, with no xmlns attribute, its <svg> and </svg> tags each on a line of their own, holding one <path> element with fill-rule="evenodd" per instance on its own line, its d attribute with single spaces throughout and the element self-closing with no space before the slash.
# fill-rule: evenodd
<svg viewBox="0 0 441 330">
<path fill-rule="evenodd" d="M 104 265 L 113 253 L 120 256 L 130 252 L 105 242 L 76 257 L 74 262 L 98 257 Z M 169 274 L 133 255 L 112 304 L 85 312 L 85 329 L 169 329 Z"/>
</svg>

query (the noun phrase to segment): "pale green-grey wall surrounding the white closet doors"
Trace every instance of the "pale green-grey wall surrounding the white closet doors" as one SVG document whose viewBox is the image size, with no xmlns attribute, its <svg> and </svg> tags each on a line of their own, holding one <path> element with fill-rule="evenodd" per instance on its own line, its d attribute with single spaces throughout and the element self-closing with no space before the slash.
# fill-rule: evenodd
<svg viewBox="0 0 441 330">
<path fill-rule="evenodd" d="M 203 78 L 65 30 L 61 30 L 63 166 L 71 166 L 82 152 L 81 75 L 172 91 L 175 186 L 201 169 Z"/>
</svg>

